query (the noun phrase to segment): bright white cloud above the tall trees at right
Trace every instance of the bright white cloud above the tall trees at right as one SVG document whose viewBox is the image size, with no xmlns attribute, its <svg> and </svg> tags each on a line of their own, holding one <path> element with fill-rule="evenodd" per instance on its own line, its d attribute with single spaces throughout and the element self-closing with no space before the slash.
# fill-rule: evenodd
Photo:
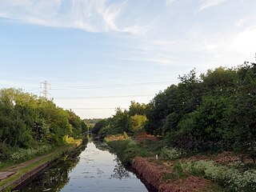
<svg viewBox="0 0 256 192">
<path fill-rule="evenodd" d="M 232 33 L 192 35 L 169 41 L 154 39 L 144 42 L 142 50 L 148 55 L 138 59 L 162 66 L 196 66 L 202 71 L 217 66 L 237 66 L 244 61 L 254 61 L 255 34 L 256 26 L 250 25 Z"/>
</svg>

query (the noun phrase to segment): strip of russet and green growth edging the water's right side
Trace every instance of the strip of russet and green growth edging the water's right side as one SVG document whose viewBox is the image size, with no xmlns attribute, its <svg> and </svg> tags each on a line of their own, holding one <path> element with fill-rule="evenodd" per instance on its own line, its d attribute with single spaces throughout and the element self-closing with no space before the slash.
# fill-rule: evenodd
<svg viewBox="0 0 256 192">
<path fill-rule="evenodd" d="M 158 148 L 164 143 L 157 142 L 154 138 L 137 141 L 134 138 L 111 136 L 111 139 L 105 139 L 118 158 L 136 170 L 140 177 L 158 192 L 223 191 L 222 187 L 214 182 L 183 170 L 181 159 L 166 161 L 156 157 L 156 154 L 159 154 Z"/>
</svg>

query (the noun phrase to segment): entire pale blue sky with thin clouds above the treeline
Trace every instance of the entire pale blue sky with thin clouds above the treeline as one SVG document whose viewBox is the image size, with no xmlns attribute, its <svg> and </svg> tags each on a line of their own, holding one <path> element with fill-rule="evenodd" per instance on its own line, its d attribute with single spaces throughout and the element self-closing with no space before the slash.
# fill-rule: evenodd
<svg viewBox="0 0 256 192">
<path fill-rule="evenodd" d="M 0 88 L 40 95 L 46 80 L 58 106 L 81 118 L 110 117 L 194 68 L 254 61 L 255 7 L 254 0 L 0 0 Z"/>
</svg>

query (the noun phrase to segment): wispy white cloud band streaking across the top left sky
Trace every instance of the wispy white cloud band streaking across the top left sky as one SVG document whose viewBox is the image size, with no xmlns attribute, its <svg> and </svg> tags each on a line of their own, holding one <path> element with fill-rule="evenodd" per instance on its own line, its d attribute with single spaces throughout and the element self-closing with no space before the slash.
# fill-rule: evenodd
<svg viewBox="0 0 256 192">
<path fill-rule="evenodd" d="M 127 1 L 106 0 L 0 0 L 0 17 L 43 26 L 78 28 L 90 32 L 144 32 L 147 26 L 126 26 L 118 18 Z"/>
</svg>

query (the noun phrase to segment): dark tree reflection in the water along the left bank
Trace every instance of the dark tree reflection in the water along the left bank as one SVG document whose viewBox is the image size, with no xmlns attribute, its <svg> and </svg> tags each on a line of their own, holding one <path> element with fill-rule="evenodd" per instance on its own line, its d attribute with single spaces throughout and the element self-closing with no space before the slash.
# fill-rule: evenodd
<svg viewBox="0 0 256 192">
<path fill-rule="evenodd" d="M 32 181 L 25 183 L 19 187 L 19 191 L 60 191 L 69 182 L 69 173 L 79 162 L 79 154 L 85 150 L 86 146 L 82 146 L 72 153 L 64 154 L 62 158 L 52 162 L 51 166 L 34 178 Z"/>
</svg>

